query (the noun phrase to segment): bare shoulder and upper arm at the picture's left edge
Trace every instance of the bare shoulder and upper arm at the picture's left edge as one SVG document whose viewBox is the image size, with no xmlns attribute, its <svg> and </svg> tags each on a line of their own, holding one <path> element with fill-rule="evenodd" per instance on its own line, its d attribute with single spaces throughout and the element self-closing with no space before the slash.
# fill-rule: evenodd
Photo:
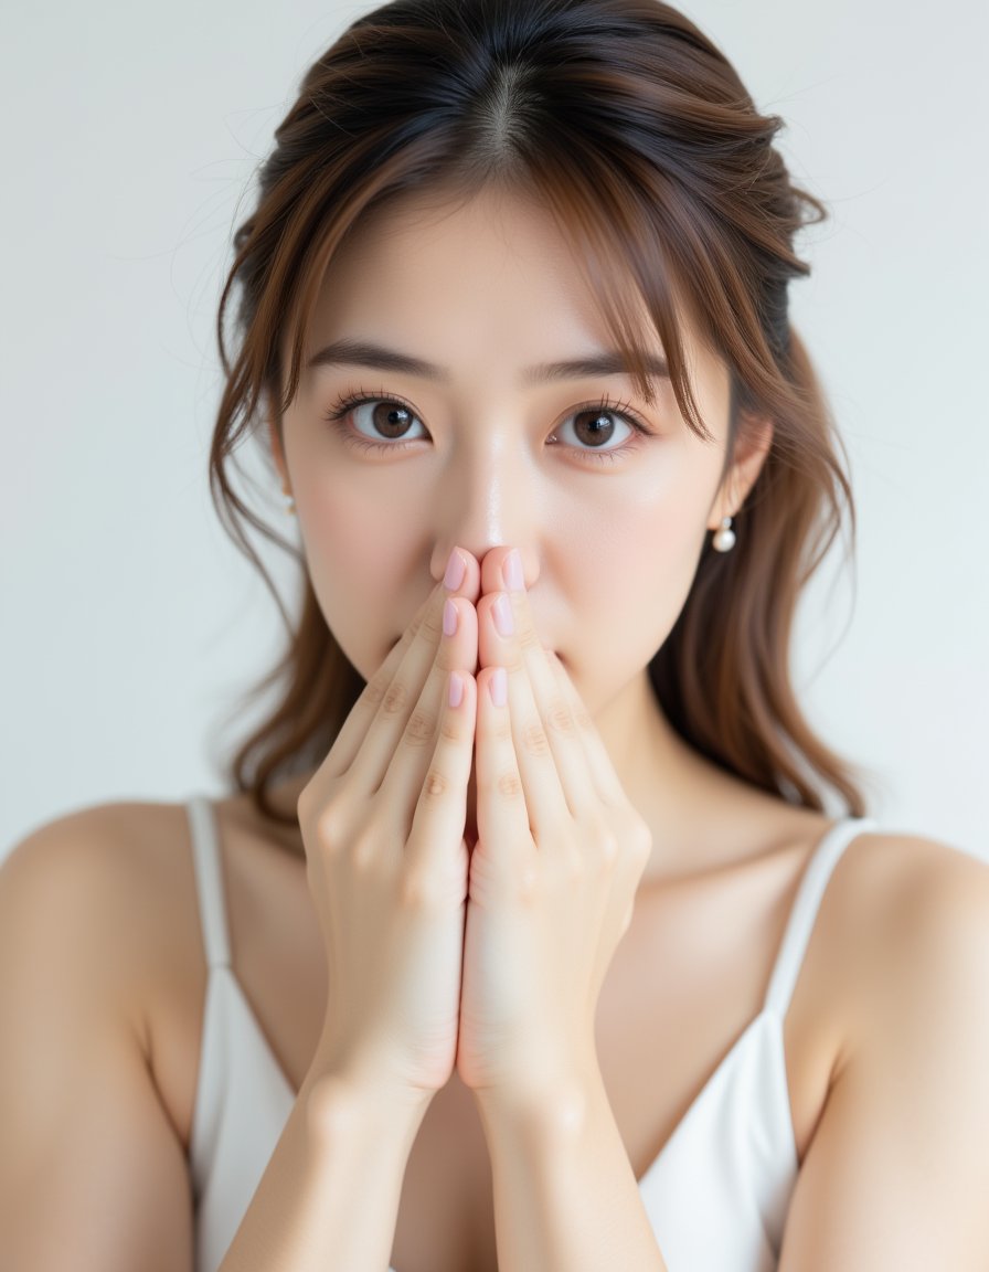
<svg viewBox="0 0 989 1272">
<path fill-rule="evenodd" d="M 168 805 L 84 809 L 34 831 L 0 869 L 0 1230 L 11 1266 L 192 1266 L 186 1155 L 151 1027 L 175 969 L 197 974 L 181 818 Z"/>
</svg>

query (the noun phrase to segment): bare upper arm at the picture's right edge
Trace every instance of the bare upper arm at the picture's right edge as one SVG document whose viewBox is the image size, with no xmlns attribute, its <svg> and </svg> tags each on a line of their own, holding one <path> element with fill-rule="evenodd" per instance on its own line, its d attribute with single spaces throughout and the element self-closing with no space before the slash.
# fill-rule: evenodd
<svg viewBox="0 0 989 1272">
<path fill-rule="evenodd" d="M 989 1261 L 989 868 L 894 845 L 853 1037 L 791 1202 L 781 1272 Z"/>
</svg>

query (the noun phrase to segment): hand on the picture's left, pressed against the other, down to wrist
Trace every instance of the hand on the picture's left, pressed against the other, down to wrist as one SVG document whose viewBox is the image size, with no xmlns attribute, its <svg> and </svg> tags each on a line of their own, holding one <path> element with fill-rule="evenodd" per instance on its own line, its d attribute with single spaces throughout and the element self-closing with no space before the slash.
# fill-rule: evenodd
<svg viewBox="0 0 989 1272">
<path fill-rule="evenodd" d="M 428 597 L 299 796 L 328 969 L 314 1067 L 398 1094 L 431 1095 L 456 1061 L 481 571 L 455 555 L 459 586 Z"/>
</svg>

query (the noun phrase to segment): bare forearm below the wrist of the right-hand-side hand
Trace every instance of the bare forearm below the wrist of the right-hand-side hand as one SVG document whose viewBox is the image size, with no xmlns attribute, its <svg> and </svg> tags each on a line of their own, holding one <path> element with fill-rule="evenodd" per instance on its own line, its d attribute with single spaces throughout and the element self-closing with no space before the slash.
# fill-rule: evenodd
<svg viewBox="0 0 989 1272">
<path fill-rule="evenodd" d="M 500 1272 L 666 1272 L 599 1075 L 543 1100 L 478 1094 Z"/>
</svg>

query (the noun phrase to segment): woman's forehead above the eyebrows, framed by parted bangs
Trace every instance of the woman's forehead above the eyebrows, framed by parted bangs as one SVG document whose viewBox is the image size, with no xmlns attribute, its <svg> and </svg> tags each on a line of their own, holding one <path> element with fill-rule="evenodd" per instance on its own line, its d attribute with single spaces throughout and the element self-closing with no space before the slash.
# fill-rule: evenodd
<svg viewBox="0 0 989 1272">
<path fill-rule="evenodd" d="M 631 277 L 609 275 L 632 313 L 634 343 L 665 351 Z M 722 361 L 678 317 L 685 370 L 727 382 Z M 567 233 L 535 198 L 497 187 L 470 197 L 403 195 L 365 215 L 323 276 L 303 333 L 304 365 L 341 338 L 375 342 L 497 388 L 524 368 L 619 347 L 600 287 Z M 716 415 L 721 412 L 717 411 Z"/>
</svg>

